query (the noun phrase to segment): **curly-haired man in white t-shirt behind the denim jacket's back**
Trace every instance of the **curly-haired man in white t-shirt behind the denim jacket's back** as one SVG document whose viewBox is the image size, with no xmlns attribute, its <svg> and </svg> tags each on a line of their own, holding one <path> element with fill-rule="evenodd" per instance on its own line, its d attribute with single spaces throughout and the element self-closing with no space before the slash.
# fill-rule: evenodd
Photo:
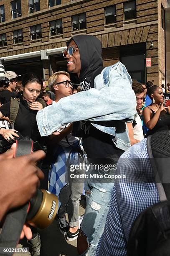
<svg viewBox="0 0 170 256">
<path fill-rule="evenodd" d="M 138 110 L 141 108 L 145 91 L 142 84 L 139 82 L 134 82 L 132 84 L 132 89 L 134 90 L 134 93 L 136 95 L 136 109 Z M 144 138 L 140 115 L 137 115 L 137 118 L 132 123 L 127 123 L 127 127 L 129 130 L 131 146 L 134 145 L 135 143 L 140 142 Z"/>
</svg>

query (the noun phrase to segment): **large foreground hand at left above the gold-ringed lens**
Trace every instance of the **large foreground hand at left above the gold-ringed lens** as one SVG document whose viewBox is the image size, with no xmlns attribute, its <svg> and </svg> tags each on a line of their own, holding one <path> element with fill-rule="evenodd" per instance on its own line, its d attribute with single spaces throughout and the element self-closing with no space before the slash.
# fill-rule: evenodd
<svg viewBox="0 0 170 256">
<path fill-rule="evenodd" d="M 0 155 L 0 220 L 8 210 L 28 202 L 44 177 L 36 166 L 45 157 L 42 150 L 14 159 L 14 149 L 15 144 Z"/>
</svg>

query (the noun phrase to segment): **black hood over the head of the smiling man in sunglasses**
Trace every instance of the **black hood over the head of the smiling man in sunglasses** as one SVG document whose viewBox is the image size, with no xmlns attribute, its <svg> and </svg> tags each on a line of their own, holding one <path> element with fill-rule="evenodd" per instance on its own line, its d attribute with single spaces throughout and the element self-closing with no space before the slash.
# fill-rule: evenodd
<svg viewBox="0 0 170 256">
<path fill-rule="evenodd" d="M 95 36 L 91 35 L 78 35 L 73 36 L 67 41 L 67 47 L 71 40 L 74 40 L 79 48 L 81 71 L 80 82 L 85 81 L 90 83 L 90 87 L 93 87 L 94 78 L 101 73 L 103 67 L 103 59 L 101 56 L 101 42 Z M 90 89 L 86 88 L 86 90 Z M 84 89 L 81 86 L 81 90 Z"/>
</svg>

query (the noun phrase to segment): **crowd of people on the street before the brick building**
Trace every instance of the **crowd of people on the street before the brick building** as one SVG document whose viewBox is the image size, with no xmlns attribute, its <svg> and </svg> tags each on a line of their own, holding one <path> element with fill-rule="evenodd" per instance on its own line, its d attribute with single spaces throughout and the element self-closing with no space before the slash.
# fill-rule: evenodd
<svg viewBox="0 0 170 256">
<path fill-rule="evenodd" d="M 113 166 L 116 164 L 117 169 L 130 173 L 133 164 L 137 170 L 139 163 L 135 159 L 142 159 L 147 152 L 148 136 L 161 131 L 168 134 L 170 107 L 164 105 L 165 86 L 162 84 L 161 88 L 151 81 L 143 84 L 132 80 L 121 62 L 104 68 L 101 43 L 94 36 L 71 38 L 63 50 L 63 57 L 67 59 L 68 72 L 53 73 L 48 79 L 48 90 L 38 74 L 30 72 L 17 76 L 15 72 L 5 72 L 9 83 L 0 91 L 0 136 L 7 141 L 14 136 L 38 141 L 46 151 L 46 157 L 41 166 L 38 165 L 41 171 L 36 167 L 36 161 L 44 157 L 41 151 L 13 159 L 12 147 L 1 154 L 0 168 L 5 163 L 7 166 L 2 181 L 8 179 L 8 169 L 17 165 L 18 159 L 28 168 L 22 177 L 26 179 L 24 193 L 23 184 L 18 186 L 17 192 L 13 192 L 17 185 L 10 184 L 9 193 L 23 194 L 20 202 L 11 203 L 13 197 L 5 194 L 5 185 L 0 186 L 0 205 L 4 206 L 0 219 L 9 210 L 30 200 L 39 185 L 37 179 L 32 181 L 38 172 L 38 178 L 45 177 L 40 187 L 58 196 L 59 229 L 66 240 L 77 239 L 79 255 L 125 256 L 135 218 L 159 202 L 159 196 L 153 185 L 154 179 L 151 184 L 142 184 L 143 188 L 139 185 L 141 190 L 132 184 L 117 184 L 112 179 L 115 174 Z M 76 87 L 69 73 L 79 81 Z M 170 84 L 167 84 L 167 92 L 170 92 Z M 11 117 L 13 112 L 15 118 Z M 8 122 L 9 127 L 6 128 L 3 122 Z M 124 163 L 124 158 L 132 159 L 133 163 Z M 83 182 L 82 179 L 71 179 L 70 166 L 83 163 L 98 167 L 88 168 L 88 172 L 77 168 L 75 175 L 87 172 L 88 177 Z M 100 169 L 101 165 L 112 168 Z M 145 164 L 142 166 L 146 176 L 152 172 Z M 13 175 L 19 175 L 19 172 L 20 168 L 18 173 L 14 170 Z M 31 191 L 27 192 L 29 188 Z M 79 228 L 79 202 L 84 190 L 86 210 Z M 129 201 L 130 192 L 131 195 L 137 194 L 132 202 Z M 6 205 L 4 198 L 7 198 Z M 41 239 L 37 229 L 26 229 L 25 236 L 32 247 L 32 256 L 40 255 Z"/>
</svg>

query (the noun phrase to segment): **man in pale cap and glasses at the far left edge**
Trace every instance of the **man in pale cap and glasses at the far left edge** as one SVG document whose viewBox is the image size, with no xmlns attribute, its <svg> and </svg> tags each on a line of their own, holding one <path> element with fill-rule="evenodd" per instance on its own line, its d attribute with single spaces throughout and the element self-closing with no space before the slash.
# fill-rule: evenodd
<svg viewBox="0 0 170 256">
<path fill-rule="evenodd" d="M 0 92 L 0 103 L 1 105 L 10 101 L 10 98 L 16 97 L 16 85 L 17 85 L 17 74 L 13 71 L 5 71 L 5 77 L 7 77 L 10 81 L 9 84 Z"/>
</svg>

